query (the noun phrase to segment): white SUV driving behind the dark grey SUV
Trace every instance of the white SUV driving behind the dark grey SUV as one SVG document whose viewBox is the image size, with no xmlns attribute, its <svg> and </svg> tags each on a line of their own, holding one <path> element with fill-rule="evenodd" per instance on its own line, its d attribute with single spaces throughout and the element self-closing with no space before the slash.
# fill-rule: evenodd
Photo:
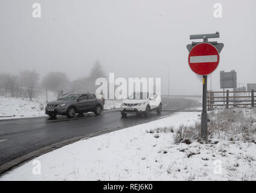
<svg viewBox="0 0 256 193">
<path fill-rule="evenodd" d="M 162 111 L 161 96 L 152 92 L 133 92 L 126 100 L 121 103 L 121 115 L 127 113 L 149 115 L 150 111 L 156 110 L 158 114 Z"/>
</svg>

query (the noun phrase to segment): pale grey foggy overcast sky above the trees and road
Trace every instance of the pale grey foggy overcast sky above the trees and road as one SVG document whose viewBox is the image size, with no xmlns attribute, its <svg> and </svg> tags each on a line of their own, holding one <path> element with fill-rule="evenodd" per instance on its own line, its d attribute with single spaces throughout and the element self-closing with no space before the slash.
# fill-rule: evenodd
<svg viewBox="0 0 256 193">
<path fill-rule="evenodd" d="M 41 18 L 32 17 L 34 2 Z M 216 2 L 222 18 L 213 16 Z M 255 0 L 1 0 L 0 72 L 35 69 L 43 77 L 62 71 L 74 80 L 98 59 L 116 78 L 161 77 L 167 93 L 166 64 L 170 94 L 198 95 L 202 83 L 188 66 L 189 35 L 219 31 L 215 40 L 225 46 L 212 89 L 220 89 L 219 71 L 232 69 L 238 83 L 256 83 L 255 18 Z"/>
</svg>

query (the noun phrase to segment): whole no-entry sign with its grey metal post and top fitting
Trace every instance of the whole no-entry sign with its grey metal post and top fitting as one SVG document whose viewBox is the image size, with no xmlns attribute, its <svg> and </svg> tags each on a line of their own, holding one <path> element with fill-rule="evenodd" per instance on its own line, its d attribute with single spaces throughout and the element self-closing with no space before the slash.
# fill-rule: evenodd
<svg viewBox="0 0 256 193">
<path fill-rule="evenodd" d="M 200 138 L 208 140 L 208 115 L 207 115 L 207 75 L 211 74 L 219 65 L 219 53 L 223 43 L 208 42 L 209 38 L 220 37 L 219 33 L 190 35 L 190 39 L 203 39 L 203 42 L 192 42 L 187 45 L 190 52 L 188 63 L 192 71 L 203 75 L 203 108 L 201 115 Z"/>
</svg>

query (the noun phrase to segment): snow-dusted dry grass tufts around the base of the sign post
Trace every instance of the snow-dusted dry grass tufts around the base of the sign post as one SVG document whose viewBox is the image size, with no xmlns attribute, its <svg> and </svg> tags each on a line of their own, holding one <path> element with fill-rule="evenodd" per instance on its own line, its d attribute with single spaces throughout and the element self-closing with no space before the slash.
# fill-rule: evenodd
<svg viewBox="0 0 256 193">
<path fill-rule="evenodd" d="M 221 109 L 208 113 L 210 122 L 208 123 L 208 135 L 212 144 L 217 144 L 218 140 L 231 142 L 253 142 L 256 144 L 256 110 L 245 109 Z M 178 129 L 173 127 L 157 128 L 150 133 L 173 132 L 174 144 L 191 144 L 194 140 L 199 140 L 200 122 L 194 125 L 179 125 Z M 217 139 L 217 141 L 216 141 Z M 225 156 L 225 152 L 222 152 Z"/>
</svg>

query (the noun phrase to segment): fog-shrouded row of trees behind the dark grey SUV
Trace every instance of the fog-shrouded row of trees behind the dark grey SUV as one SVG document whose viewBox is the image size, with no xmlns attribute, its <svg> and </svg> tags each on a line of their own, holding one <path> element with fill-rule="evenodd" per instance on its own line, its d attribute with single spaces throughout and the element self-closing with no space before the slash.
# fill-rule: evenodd
<svg viewBox="0 0 256 193">
<path fill-rule="evenodd" d="M 53 92 L 95 92 L 95 80 L 98 77 L 106 77 L 98 60 L 92 66 L 88 76 L 70 81 L 63 72 L 49 72 L 42 81 L 34 70 L 25 70 L 17 75 L 10 73 L 0 74 L 0 95 L 34 97 L 35 88 L 47 89 Z M 23 92 L 21 93 L 21 90 Z M 25 92 L 24 92 L 25 90 Z"/>
</svg>

